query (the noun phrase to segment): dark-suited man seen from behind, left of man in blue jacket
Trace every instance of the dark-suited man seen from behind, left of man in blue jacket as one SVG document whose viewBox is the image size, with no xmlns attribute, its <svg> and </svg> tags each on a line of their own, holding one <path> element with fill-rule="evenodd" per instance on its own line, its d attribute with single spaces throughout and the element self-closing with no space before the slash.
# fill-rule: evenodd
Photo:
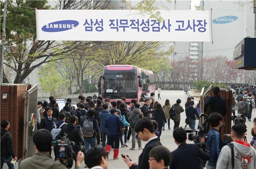
<svg viewBox="0 0 256 169">
<path fill-rule="evenodd" d="M 200 160 L 209 160 L 207 147 L 202 149 L 198 144 L 186 143 L 187 133 L 182 127 L 173 131 L 173 137 L 178 148 L 171 152 L 170 169 L 200 169 Z"/>
</svg>

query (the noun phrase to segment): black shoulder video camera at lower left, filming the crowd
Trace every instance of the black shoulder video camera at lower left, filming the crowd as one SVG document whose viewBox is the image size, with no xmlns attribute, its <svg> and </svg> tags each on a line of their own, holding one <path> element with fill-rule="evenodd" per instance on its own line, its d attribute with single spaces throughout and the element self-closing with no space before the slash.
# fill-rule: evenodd
<svg viewBox="0 0 256 169">
<path fill-rule="evenodd" d="M 64 136 L 60 140 L 53 140 L 53 145 L 57 150 L 57 160 L 60 160 L 66 167 L 71 168 L 75 159 L 75 153 L 72 148 L 75 143 L 70 141 L 67 138 L 67 134 L 64 133 Z"/>
</svg>

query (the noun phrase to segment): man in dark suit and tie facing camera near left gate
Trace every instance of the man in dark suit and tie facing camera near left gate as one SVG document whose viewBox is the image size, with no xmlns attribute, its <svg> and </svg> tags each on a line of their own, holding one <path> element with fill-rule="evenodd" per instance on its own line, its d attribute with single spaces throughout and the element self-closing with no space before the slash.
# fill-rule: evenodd
<svg viewBox="0 0 256 169">
<path fill-rule="evenodd" d="M 47 116 L 40 121 L 39 129 L 46 129 L 48 131 L 52 131 L 53 125 L 57 121 L 53 115 L 53 109 L 51 107 L 47 107 L 45 109 Z"/>
</svg>

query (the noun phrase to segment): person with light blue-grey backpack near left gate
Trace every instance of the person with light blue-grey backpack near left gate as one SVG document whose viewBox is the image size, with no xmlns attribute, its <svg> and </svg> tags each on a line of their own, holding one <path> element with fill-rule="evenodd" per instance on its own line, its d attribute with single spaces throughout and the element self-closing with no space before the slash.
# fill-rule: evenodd
<svg viewBox="0 0 256 169">
<path fill-rule="evenodd" d="M 59 120 L 56 121 L 56 123 L 53 125 L 53 129 L 51 131 L 53 140 L 61 139 L 61 130 L 67 125 L 67 123 L 65 123 L 65 120 L 66 115 L 64 113 L 60 113 Z M 56 146 L 54 146 L 54 156 L 58 156 L 58 150 Z M 55 160 L 57 160 L 56 157 Z"/>
</svg>

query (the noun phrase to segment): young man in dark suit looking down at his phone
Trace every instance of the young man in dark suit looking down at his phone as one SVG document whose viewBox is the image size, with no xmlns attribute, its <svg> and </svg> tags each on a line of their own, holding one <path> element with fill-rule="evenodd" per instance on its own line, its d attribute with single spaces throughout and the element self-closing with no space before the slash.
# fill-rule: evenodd
<svg viewBox="0 0 256 169">
<path fill-rule="evenodd" d="M 153 122 L 148 118 L 139 119 L 135 125 L 135 132 L 143 141 L 148 141 L 139 156 L 139 163 L 132 162 L 127 155 L 123 155 L 123 160 L 130 169 L 149 169 L 149 151 L 157 145 L 162 145 L 159 138 L 155 136 Z"/>
</svg>

